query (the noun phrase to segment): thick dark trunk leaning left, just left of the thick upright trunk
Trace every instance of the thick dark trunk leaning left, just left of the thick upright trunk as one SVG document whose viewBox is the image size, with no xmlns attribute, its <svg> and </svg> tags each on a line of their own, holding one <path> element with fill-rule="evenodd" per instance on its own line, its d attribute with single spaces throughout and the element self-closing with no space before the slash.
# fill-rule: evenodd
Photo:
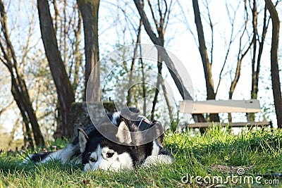
<svg viewBox="0 0 282 188">
<path fill-rule="evenodd" d="M 73 88 L 71 87 L 70 80 L 68 80 L 66 68 L 63 65 L 61 54 L 58 49 L 48 1 L 37 0 L 37 8 L 44 49 L 51 75 L 56 85 L 56 92 L 58 94 L 61 109 L 62 136 L 71 137 L 73 135 L 73 129 L 72 127 L 68 127 L 68 115 L 70 113 L 71 104 L 75 101 Z M 59 130 L 57 129 L 57 131 Z"/>
</svg>

